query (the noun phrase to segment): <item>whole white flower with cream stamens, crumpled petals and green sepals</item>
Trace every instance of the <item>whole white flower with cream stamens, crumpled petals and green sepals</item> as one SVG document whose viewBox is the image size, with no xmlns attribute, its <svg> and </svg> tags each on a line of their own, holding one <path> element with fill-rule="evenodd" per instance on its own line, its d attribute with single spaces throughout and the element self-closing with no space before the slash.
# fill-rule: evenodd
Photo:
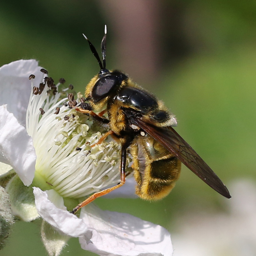
<svg viewBox="0 0 256 256">
<path fill-rule="evenodd" d="M 57 92 L 60 84 L 40 69 L 35 60 L 0 68 L 0 177 L 10 178 L 12 168 L 18 175 L 6 187 L 14 214 L 25 221 L 43 219 L 49 255 L 59 255 L 69 237 L 78 237 L 83 249 L 99 255 L 171 256 L 170 234 L 159 225 L 92 203 L 80 218 L 68 211 L 82 197 L 119 182 L 119 145 L 110 139 L 91 149 L 102 129 L 97 132 L 87 116 L 64 106 L 65 90 Z M 35 79 L 28 79 L 31 74 Z M 129 185 L 133 179 L 112 195 L 134 194 Z"/>
</svg>

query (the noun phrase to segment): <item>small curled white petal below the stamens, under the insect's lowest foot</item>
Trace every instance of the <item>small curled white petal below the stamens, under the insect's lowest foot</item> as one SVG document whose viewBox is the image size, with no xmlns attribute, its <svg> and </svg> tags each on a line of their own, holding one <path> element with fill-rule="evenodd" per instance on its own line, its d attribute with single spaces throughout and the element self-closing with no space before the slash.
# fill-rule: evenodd
<svg viewBox="0 0 256 256">
<path fill-rule="evenodd" d="M 59 209 L 48 199 L 46 191 L 42 191 L 37 187 L 33 187 L 33 190 L 37 211 L 50 225 L 72 237 L 86 234 L 86 231 L 88 230 L 87 225 L 81 219 L 76 217 L 76 215 L 67 210 L 63 210 L 64 204 L 61 196 L 59 196 L 58 205 L 61 206 L 62 209 Z M 53 195 L 51 195 L 51 197 L 52 196 Z M 55 194 L 54 197 L 54 201 L 57 202 L 57 194 Z"/>
</svg>

